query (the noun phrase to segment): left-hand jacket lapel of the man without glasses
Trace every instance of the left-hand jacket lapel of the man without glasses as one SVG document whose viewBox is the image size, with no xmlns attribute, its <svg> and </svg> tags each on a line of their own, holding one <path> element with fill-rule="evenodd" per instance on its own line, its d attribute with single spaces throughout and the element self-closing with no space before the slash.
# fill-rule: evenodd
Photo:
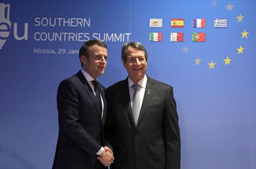
<svg viewBox="0 0 256 169">
<path fill-rule="evenodd" d="M 96 110 L 98 112 L 98 116 L 99 116 L 100 122 L 101 122 L 101 114 L 102 114 L 102 112 L 100 112 L 100 109 L 98 107 L 98 100 L 97 100 L 96 96 L 94 95 L 94 92 L 92 91 L 91 86 L 89 85 L 88 81 L 86 80 L 86 78 L 84 77 L 84 75 L 83 75 L 83 73 L 81 71 L 79 71 L 76 75 L 78 76 L 80 81 L 83 83 L 84 88 L 86 89 L 88 95 L 90 96 L 90 98 L 94 102 L 95 108 L 96 108 Z"/>
</svg>

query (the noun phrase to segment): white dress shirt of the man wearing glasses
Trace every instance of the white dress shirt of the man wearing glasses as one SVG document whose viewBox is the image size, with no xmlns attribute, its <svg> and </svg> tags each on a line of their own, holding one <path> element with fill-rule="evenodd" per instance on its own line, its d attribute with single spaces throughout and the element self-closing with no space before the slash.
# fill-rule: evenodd
<svg viewBox="0 0 256 169">
<path fill-rule="evenodd" d="M 133 99 L 133 94 L 134 94 L 134 88 L 132 85 L 134 82 L 128 77 L 128 86 L 129 86 L 129 92 L 130 92 L 130 100 L 131 100 L 131 105 L 132 105 L 132 99 Z M 147 76 L 145 76 L 137 83 L 139 85 L 139 94 L 140 94 L 140 108 L 143 102 L 145 90 L 146 90 L 146 85 L 147 85 Z"/>
</svg>

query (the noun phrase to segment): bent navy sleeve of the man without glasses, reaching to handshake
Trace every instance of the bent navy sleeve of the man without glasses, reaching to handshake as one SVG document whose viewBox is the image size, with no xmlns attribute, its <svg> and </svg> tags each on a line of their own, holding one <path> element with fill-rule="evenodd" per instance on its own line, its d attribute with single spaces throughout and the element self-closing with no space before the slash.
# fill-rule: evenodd
<svg viewBox="0 0 256 169">
<path fill-rule="evenodd" d="M 60 83 L 57 93 L 59 120 L 66 133 L 90 155 L 95 155 L 102 147 L 79 123 L 80 92 L 71 81 Z"/>
</svg>

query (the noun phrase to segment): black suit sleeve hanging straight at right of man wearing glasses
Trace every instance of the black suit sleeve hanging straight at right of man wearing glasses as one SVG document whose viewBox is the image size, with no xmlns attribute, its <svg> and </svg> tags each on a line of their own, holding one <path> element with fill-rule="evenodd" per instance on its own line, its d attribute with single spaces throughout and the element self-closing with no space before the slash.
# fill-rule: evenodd
<svg viewBox="0 0 256 169">
<path fill-rule="evenodd" d="M 180 129 L 172 86 L 166 96 L 163 124 L 166 139 L 166 169 L 180 169 Z"/>
</svg>

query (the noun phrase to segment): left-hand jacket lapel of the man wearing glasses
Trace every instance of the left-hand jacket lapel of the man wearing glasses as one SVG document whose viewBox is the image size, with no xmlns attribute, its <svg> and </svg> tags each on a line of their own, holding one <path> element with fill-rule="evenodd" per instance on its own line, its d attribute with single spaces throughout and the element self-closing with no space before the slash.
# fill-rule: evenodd
<svg viewBox="0 0 256 169">
<path fill-rule="evenodd" d="M 119 89 L 119 92 L 122 96 L 123 103 L 124 103 L 124 106 L 125 106 L 126 111 L 128 113 L 128 116 L 130 118 L 130 121 L 132 122 L 132 125 L 134 126 L 134 128 L 136 128 L 134 118 L 133 118 L 133 114 L 132 114 L 132 105 L 131 105 L 131 100 L 130 100 L 128 77 L 124 81 L 122 81 L 122 86 Z"/>
</svg>

